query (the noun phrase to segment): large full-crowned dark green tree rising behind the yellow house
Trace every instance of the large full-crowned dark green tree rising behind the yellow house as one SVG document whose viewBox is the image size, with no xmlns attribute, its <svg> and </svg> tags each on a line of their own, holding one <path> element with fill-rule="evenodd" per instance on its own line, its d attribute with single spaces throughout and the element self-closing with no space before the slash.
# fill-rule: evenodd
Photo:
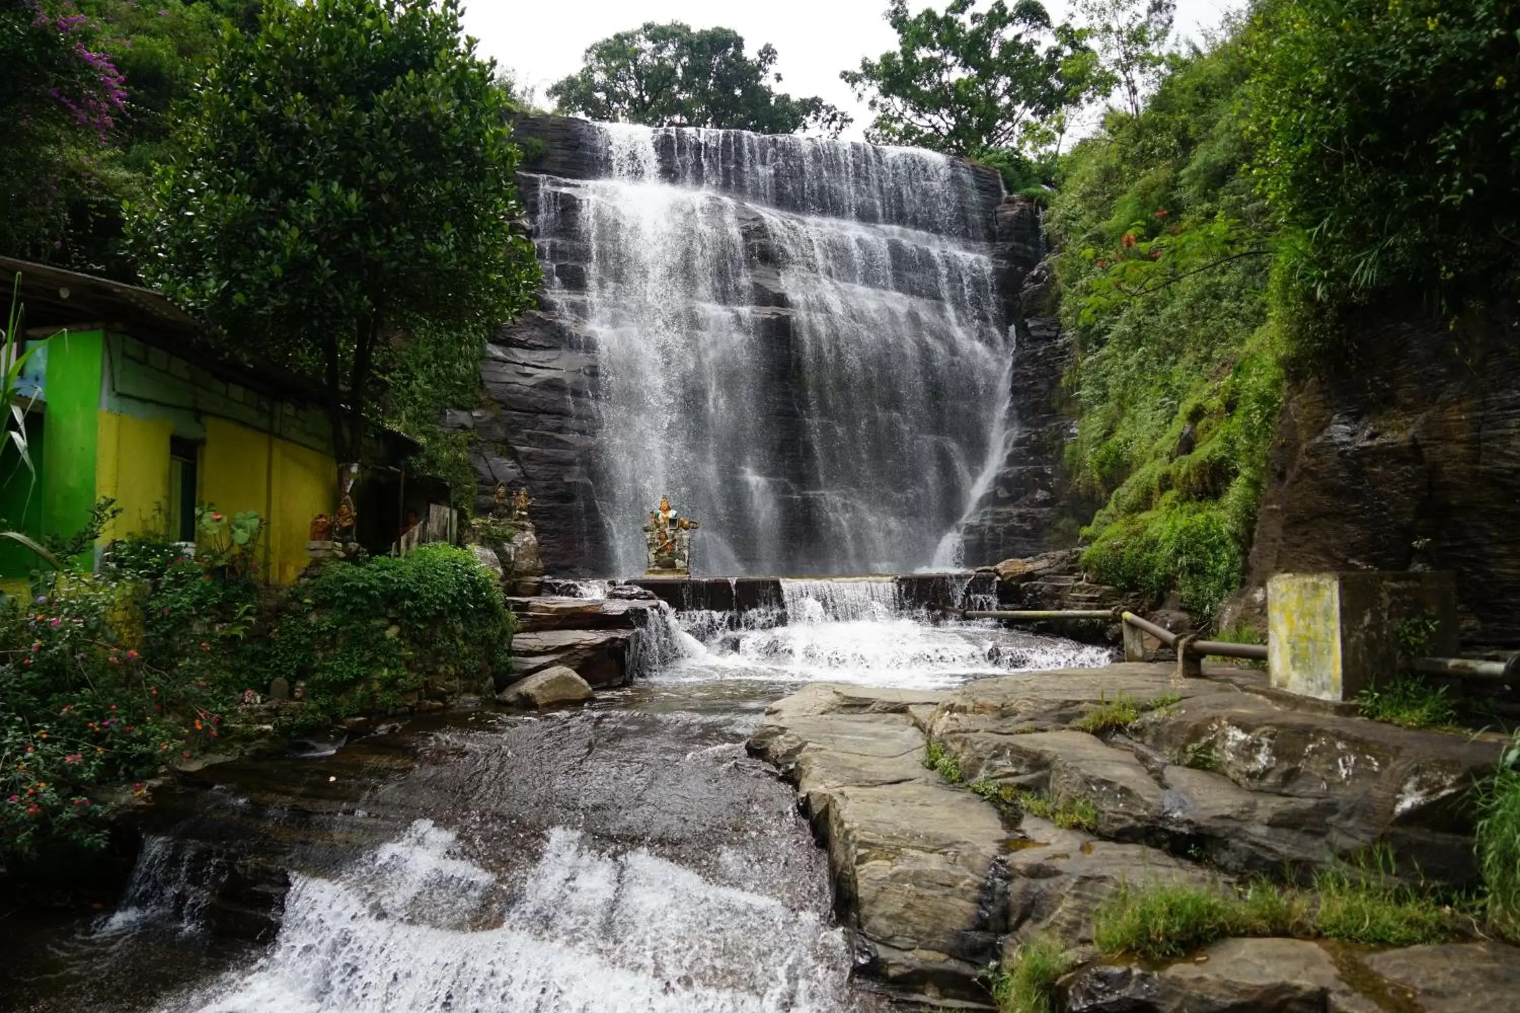
<svg viewBox="0 0 1520 1013">
<path fill-rule="evenodd" d="M 225 35 L 182 153 L 128 210 L 150 284 L 228 349 L 321 380 L 339 462 L 360 462 L 407 342 L 477 351 L 537 286 L 494 70 L 458 0 L 269 0 L 257 35 Z"/>
</svg>

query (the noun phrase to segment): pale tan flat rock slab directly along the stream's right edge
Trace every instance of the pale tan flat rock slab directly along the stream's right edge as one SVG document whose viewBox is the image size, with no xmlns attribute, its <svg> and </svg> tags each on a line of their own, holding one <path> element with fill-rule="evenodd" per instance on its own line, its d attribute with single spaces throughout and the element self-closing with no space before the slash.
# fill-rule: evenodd
<svg viewBox="0 0 1520 1013">
<path fill-rule="evenodd" d="M 796 784 L 827 841 L 865 969 L 927 999 L 985 1001 L 976 977 L 997 958 L 1008 832 L 993 806 L 924 768 L 909 709 L 936 702 L 810 685 L 768 711 L 749 749 Z"/>
</svg>

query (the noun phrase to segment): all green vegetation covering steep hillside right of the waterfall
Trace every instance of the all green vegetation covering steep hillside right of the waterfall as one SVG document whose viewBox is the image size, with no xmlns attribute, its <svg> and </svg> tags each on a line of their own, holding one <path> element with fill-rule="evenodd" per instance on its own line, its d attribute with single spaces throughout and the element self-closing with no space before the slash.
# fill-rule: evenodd
<svg viewBox="0 0 1520 1013">
<path fill-rule="evenodd" d="M 1344 314 L 1382 295 L 1447 319 L 1514 295 L 1517 52 L 1511 3 L 1262 0 L 1064 158 L 1093 571 L 1214 614 L 1284 377 L 1333 368 Z"/>
</svg>

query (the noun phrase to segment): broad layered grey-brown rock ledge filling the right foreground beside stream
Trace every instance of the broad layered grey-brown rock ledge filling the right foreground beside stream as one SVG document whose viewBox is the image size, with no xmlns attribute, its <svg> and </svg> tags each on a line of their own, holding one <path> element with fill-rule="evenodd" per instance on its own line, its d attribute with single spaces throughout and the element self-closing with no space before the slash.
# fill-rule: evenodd
<svg viewBox="0 0 1520 1013">
<path fill-rule="evenodd" d="M 1073 727 L 1120 699 L 1142 712 L 1126 729 Z M 930 741 L 961 784 L 926 767 Z M 1411 878 L 1471 884 L 1464 802 L 1494 740 L 1313 709 L 1260 673 L 1175 685 L 1169 667 L 1120 664 L 939 693 L 815 683 L 772 705 L 749 749 L 796 785 L 863 972 L 945 1008 L 991 1005 L 985 972 L 1035 936 L 1090 961 L 1062 981 L 1067 1010 L 1476 1010 L 1520 986 L 1520 949 L 1499 943 L 1227 940 L 1155 967 L 1096 961 L 1091 939 L 1123 884 L 1306 879 L 1373 844 Z M 971 782 L 1084 799 L 1090 831 Z"/>
</svg>

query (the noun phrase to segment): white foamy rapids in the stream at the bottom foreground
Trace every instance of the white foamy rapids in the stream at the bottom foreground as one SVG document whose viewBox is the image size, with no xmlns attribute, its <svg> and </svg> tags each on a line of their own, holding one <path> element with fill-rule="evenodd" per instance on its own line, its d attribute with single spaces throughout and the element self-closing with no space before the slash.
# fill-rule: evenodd
<svg viewBox="0 0 1520 1013">
<path fill-rule="evenodd" d="M 418 820 L 336 878 L 296 875 L 272 952 L 175 1013 L 833 1011 L 848 1007 L 841 929 L 643 849 L 549 834 L 500 884 Z"/>
</svg>

